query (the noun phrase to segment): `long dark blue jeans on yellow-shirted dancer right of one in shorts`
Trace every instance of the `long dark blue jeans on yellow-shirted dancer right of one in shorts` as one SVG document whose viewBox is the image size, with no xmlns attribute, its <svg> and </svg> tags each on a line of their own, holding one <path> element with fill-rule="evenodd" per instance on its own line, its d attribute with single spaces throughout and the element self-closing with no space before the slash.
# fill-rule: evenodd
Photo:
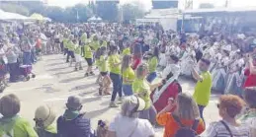
<svg viewBox="0 0 256 137">
<path fill-rule="evenodd" d="M 113 83 L 113 93 L 111 97 L 111 101 L 114 102 L 117 94 L 119 93 L 119 97 L 122 97 L 122 79 L 121 75 L 115 74 L 115 73 L 110 73 L 110 77 Z"/>
</svg>

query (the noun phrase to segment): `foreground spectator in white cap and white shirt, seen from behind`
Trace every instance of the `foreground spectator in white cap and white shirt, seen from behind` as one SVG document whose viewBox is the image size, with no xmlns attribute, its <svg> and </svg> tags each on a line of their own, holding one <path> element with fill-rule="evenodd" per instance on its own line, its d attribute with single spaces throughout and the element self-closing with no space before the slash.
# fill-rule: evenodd
<svg viewBox="0 0 256 137">
<path fill-rule="evenodd" d="M 136 97 L 126 98 L 121 113 L 116 115 L 109 127 L 109 137 L 153 137 L 154 129 L 147 119 L 138 118 L 138 112 L 145 108 L 145 102 Z"/>
</svg>

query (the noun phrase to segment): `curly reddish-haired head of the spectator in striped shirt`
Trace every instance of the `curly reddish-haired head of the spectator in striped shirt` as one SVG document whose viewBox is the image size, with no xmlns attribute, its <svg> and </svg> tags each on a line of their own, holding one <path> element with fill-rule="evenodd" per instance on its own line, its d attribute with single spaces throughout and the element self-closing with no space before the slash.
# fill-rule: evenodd
<svg viewBox="0 0 256 137">
<path fill-rule="evenodd" d="M 238 96 L 223 95 L 217 103 L 218 113 L 222 118 L 235 118 L 244 105 L 245 103 Z"/>
</svg>

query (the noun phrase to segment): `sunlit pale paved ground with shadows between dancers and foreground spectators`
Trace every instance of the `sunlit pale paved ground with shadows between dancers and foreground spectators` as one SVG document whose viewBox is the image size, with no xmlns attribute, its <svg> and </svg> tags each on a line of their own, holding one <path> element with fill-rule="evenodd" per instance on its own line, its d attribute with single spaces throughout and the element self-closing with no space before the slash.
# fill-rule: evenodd
<svg viewBox="0 0 256 137">
<path fill-rule="evenodd" d="M 85 63 L 83 64 L 85 66 Z M 10 84 L 10 87 L 0 95 L 13 93 L 21 102 L 21 115 L 33 123 L 36 108 L 47 103 L 51 105 L 57 115 L 63 113 L 67 97 L 76 95 L 82 98 L 83 111 L 92 118 L 95 128 L 99 119 L 111 120 L 120 108 L 109 108 L 110 97 L 99 97 L 98 86 L 95 77 L 84 78 L 84 71 L 74 72 L 73 67 L 68 67 L 63 55 L 43 56 L 43 60 L 34 66 L 36 79 L 29 82 Z M 182 79 L 183 91 L 193 94 L 194 83 L 191 80 Z M 207 123 L 217 120 L 218 113 L 215 103 L 218 96 L 212 96 L 210 104 L 205 110 Z M 163 129 L 156 129 L 157 136 L 161 136 Z"/>
</svg>

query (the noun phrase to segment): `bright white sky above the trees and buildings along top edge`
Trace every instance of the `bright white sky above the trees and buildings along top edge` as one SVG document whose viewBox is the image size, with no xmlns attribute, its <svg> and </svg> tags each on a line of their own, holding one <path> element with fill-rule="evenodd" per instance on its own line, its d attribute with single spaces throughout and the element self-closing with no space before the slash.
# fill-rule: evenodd
<svg viewBox="0 0 256 137">
<path fill-rule="evenodd" d="M 88 3 L 89 0 L 47 0 L 48 5 L 50 6 L 59 6 L 62 8 L 68 7 L 68 6 L 74 6 L 78 3 Z M 142 3 L 146 9 L 150 9 L 151 7 L 151 0 L 121 0 L 121 4 L 129 3 L 132 1 L 139 1 Z M 179 0 L 180 6 L 182 7 L 182 4 L 185 0 Z M 197 8 L 200 3 L 213 3 L 216 7 L 221 7 L 225 4 L 225 0 L 193 0 L 194 1 L 194 8 Z M 256 0 L 228 0 L 230 7 L 246 7 L 246 6 L 256 6 Z"/>
</svg>

